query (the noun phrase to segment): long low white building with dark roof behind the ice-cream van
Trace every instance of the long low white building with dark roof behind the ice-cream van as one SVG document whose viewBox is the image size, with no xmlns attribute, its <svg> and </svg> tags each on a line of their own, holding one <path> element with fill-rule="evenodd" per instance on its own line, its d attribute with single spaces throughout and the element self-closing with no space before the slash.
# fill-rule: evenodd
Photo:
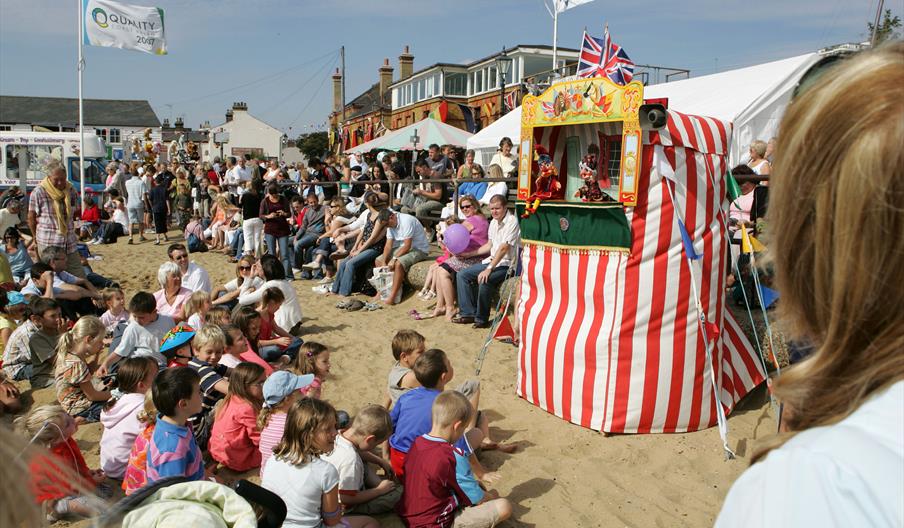
<svg viewBox="0 0 904 528">
<path fill-rule="evenodd" d="M 142 100 L 84 99 L 85 130 L 107 143 L 107 157 L 122 159 L 128 142 L 151 129 L 160 139 L 160 120 Z M 0 131 L 78 131 L 78 99 L 68 97 L 0 96 Z M 128 153 L 126 153 L 128 155 Z"/>
</svg>

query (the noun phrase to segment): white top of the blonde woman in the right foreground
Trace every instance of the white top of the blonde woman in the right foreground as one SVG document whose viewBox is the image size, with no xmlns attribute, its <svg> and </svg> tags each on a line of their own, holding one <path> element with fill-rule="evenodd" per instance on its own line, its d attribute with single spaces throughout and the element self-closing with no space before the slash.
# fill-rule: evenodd
<svg viewBox="0 0 904 528">
<path fill-rule="evenodd" d="M 748 468 L 716 526 L 904 526 L 904 381 Z"/>
</svg>

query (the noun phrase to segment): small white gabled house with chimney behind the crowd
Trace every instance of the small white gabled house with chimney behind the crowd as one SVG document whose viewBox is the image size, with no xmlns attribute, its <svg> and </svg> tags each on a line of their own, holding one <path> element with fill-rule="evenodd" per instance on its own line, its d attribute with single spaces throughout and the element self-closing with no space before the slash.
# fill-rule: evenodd
<svg viewBox="0 0 904 528">
<path fill-rule="evenodd" d="M 219 143 L 223 138 L 228 139 Z M 210 139 L 201 146 L 201 159 L 245 154 L 280 159 L 282 149 L 282 132 L 248 113 L 246 103 L 233 103 L 226 111 L 226 122 L 210 127 Z"/>
</svg>

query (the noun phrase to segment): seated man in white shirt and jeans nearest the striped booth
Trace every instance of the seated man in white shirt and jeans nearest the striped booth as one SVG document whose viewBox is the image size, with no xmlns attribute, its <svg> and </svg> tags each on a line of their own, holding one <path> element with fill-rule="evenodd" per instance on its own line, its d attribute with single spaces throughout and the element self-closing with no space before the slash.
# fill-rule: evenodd
<svg viewBox="0 0 904 528">
<path fill-rule="evenodd" d="M 508 212 L 508 200 L 504 195 L 497 194 L 490 200 L 490 214 L 493 220 L 490 222 L 489 240 L 478 250 L 489 256 L 480 264 L 459 271 L 455 278 L 460 311 L 452 322 L 474 323 L 474 328 L 490 326 L 490 299 L 493 290 L 508 276 L 521 240 L 518 219 Z"/>
</svg>

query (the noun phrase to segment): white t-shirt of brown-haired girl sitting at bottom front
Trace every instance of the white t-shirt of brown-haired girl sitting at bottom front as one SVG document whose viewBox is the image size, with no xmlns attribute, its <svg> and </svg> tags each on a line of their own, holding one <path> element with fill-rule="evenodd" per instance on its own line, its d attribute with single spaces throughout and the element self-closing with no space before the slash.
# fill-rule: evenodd
<svg viewBox="0 0 904 528">
<path fill-rule="evenodd" d="M 286 503 L 283 526 L 321 526 L 320 505 L 323 494 L 338 484 L 339 472 L 321 458 L 293 466 L 274 456 L 267 461 L 261 478 L 261 486 L 279 495 Z"/>
</svg>

